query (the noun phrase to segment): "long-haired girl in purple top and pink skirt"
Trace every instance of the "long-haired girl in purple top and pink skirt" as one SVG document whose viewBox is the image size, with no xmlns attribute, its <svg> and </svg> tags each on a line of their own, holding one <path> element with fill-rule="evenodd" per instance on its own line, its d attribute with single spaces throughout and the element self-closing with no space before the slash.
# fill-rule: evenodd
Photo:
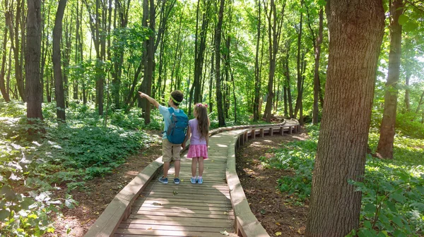
<svg viewBox="0 0 424 237">
<path fill-rule="evenodd" d="M 190 148 L 187 158 L 192 159 L 192 183 L 203 183 L 202 174 L 204 171 L 204 159 L 208 159 L 208 141 L 209 141 L 209 118 L 208 118 L 208 105 L 196 104 L 194 105 L 194 118 L 189 121 L 189 129 L 187 130 L 186 138 L 181 146 L 184 148 L 185 143 L 189 140 L 190 135 Z M 199 163 L 199 176 L 196 177 L 196 166 Z"/>
</svg>

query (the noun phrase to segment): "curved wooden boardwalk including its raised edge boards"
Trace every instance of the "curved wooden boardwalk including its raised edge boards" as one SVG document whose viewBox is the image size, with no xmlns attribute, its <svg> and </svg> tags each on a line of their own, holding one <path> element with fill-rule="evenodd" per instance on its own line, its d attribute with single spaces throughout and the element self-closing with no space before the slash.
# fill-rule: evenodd
<svg viewBox="0 0 424 237">
<path fill-rule="evenodd" d="M 191 159 L 181 159 L 176 185 L 158 182 L 162 157 L 134 178 L 86 236 L 269 236 L 252 214 L 235 172 L 235 150 L 248 139 L 298 130 L 298 121 L 211 130 L 204 183 L 190 183 Z M 169 177 L 174 176 L 174 167 Z"/>
</svg>

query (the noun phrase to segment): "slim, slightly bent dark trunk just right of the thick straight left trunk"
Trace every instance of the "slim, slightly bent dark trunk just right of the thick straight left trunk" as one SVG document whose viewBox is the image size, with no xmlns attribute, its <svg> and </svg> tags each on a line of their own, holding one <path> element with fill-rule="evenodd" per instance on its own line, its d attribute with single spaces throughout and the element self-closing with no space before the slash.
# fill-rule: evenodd
<svg viewBox="0 0 424 237">
<path fill-rule="evenodd" d="M 61 50 L 60 39 L 62 34 L 62 19 L 64 18 L 64 11 L 67 0 L 60 0 L 57 6 L 56 19 L 54 20 L 53 28 L 53 70 L 54 70 L 54 95 L 56 96 L 56 114 L 57 120 L 64 122 L 65 117 L 65 96 L 64 96 L 64 81 L 62 79 L 61 71 Z"/>
</svg>

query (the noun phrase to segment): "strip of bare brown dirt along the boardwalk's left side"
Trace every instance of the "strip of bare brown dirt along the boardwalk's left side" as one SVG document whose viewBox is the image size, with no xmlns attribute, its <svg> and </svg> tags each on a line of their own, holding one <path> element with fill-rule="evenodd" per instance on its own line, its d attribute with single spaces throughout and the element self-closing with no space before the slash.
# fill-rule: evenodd
<svg viewBox="0 0 424 237">
<path fill-rule="evenodd" d="M 160 135 L 156 131 L 148 132 L 152 135 Z M 159 138 L 159 137 L 158 137 Z M 84 190 L 73 190 L 71 195 L 78 205 L 73 209 L 62 209 L 63 217 L 56 217 L 53 234 L 47 236 L 77 236 L 86 234 L 90 226 L 106 209 L 115 195 L 126 186 L 137 174 L 155 159 L 162 155 L 162 145 L 157 143 L 140 150 L 139 154 L 133 155 L 126 163 L 114 169 L 113 173 L 103 178 L 95 178 L 86 181 Z M 56 193 L 57 197 L 64 197 L 66 187 Z M 69 233 L 66 233 L 69 231 Z"/>
</svg>

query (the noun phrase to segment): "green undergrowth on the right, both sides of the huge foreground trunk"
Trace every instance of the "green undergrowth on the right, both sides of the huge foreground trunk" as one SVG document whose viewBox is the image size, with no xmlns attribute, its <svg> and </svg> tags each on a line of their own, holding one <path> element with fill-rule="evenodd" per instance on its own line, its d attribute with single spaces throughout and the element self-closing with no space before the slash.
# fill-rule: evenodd
<svg viewBox="0 0 424 237">
<path fill-rule="evenodd" d="M 278 179 L 278 189 L 296 197 L 310 197 L 318 127 L 307 126 L 310 139 L 287 142 L 267 166 L 293 171 Z M 378 134 L 370 133 L 375 150 Z M 420 236 L 424 233 L 424 140 L 396 136 L 394 159 L 367 157 L 363 182 L 350 181 L 363 193 L 360 229 L 349 236 Z"/>
</svg>

